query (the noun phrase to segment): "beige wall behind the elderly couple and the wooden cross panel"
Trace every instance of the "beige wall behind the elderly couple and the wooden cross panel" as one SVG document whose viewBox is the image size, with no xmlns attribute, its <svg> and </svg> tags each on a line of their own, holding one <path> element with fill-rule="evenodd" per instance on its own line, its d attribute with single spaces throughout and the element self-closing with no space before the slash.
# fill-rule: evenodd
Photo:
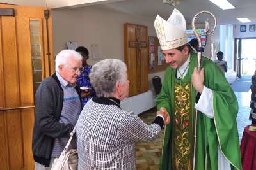
<svg viewBox="0 0 256 170">
<path fill-rule="evenodd" d="M 54 55 L 67 48 L 67 41 L 76 41 L 78 46 L 88 47 L 97 43 L 100 46 L 102 59 L 115 58 L 124 60 L 124 23 L 145 25 L 148 36 L 156 36 L 154 18 L 134 17 L 118 11 L 106 10 L 95 6 L 83 8 L 52 10 L 52 25 L 54 39 Z M 95 64 L 102 59 L 90 59 L 89 64 Z M 164 71 L 149 74 L 149 87 L 152 89 L 152 77 L 161 76 Z"/>
</svg>

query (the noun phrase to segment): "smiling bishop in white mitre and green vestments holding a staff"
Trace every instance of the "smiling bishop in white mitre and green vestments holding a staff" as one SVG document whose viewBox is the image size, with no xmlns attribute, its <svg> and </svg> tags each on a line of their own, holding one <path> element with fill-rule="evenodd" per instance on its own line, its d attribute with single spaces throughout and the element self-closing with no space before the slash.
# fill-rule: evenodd
<svg viewBox="0 0 256 170">
<path fill-rule="evenodd" d="M 238 104 L 225 76 L 207 57 L 202 58 L 204 68 L 197 71 L 196 53 L 187 43 L 186 21 L 180 11 L 173 10 L 167 21 L 157 15 L 154 26 L 170 65 L 157 97 L 157 108 L 165 108 L 172 120 L 164 133 L 161 169 L 192 169 L 195 109 L 195 169 L 241 169 Z"/>
</svg>

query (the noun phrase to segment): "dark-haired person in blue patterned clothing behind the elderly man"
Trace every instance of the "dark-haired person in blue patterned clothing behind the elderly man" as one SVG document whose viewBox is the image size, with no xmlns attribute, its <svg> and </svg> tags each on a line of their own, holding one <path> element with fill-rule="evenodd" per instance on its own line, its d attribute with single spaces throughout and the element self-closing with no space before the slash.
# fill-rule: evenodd
<svg viewBox="0 0 256 170">
<path fill-rule="evenodd" d="M 76 48 L 76 52 L 79 52 L 83 57 L 83 73 L 77 78 L 77 83 L 81 87 L 81 97 L 82 97 L 82 106 L 86 104 L 93 96 L 95 96 L 95 90 L 93 89 L 89 74 L 92 69 L 92 66 L 88 65 L 87 60 L 89 59 L 89 52 L 84 46 L 79 46 Z"/>
</svg>

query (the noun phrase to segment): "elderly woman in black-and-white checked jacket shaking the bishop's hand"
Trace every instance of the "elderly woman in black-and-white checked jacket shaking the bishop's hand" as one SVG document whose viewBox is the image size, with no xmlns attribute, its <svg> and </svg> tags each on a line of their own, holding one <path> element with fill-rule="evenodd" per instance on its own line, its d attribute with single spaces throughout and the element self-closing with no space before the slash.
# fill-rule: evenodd
<svg viewBox="0 0 256 170">
<path fill-rule="evenodd" d="M 92 67 L 90 81 L 97 93 L 85 104 L 77 121 L 78 169 L 136 169 L 135 143 L 152 142 L 164 124 L 165 111 L 151 125 L 133 111 L 120 108 L 129 94 L 127 67 L 121 60 L 106 59 Z"/>
</svg>

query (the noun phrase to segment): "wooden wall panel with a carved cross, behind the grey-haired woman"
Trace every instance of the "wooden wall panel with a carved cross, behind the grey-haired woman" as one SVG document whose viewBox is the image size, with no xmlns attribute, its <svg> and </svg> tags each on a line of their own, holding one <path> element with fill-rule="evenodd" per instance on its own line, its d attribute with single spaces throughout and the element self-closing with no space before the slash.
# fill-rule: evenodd
<svg viewBox="0 0 256 170">
<path fill-rule="evenodd" d="M 129 96 L 148 90 L 148 30 L 146 26 L 124 24 L 124 51 L 130 80 Z"/>
</svg>

